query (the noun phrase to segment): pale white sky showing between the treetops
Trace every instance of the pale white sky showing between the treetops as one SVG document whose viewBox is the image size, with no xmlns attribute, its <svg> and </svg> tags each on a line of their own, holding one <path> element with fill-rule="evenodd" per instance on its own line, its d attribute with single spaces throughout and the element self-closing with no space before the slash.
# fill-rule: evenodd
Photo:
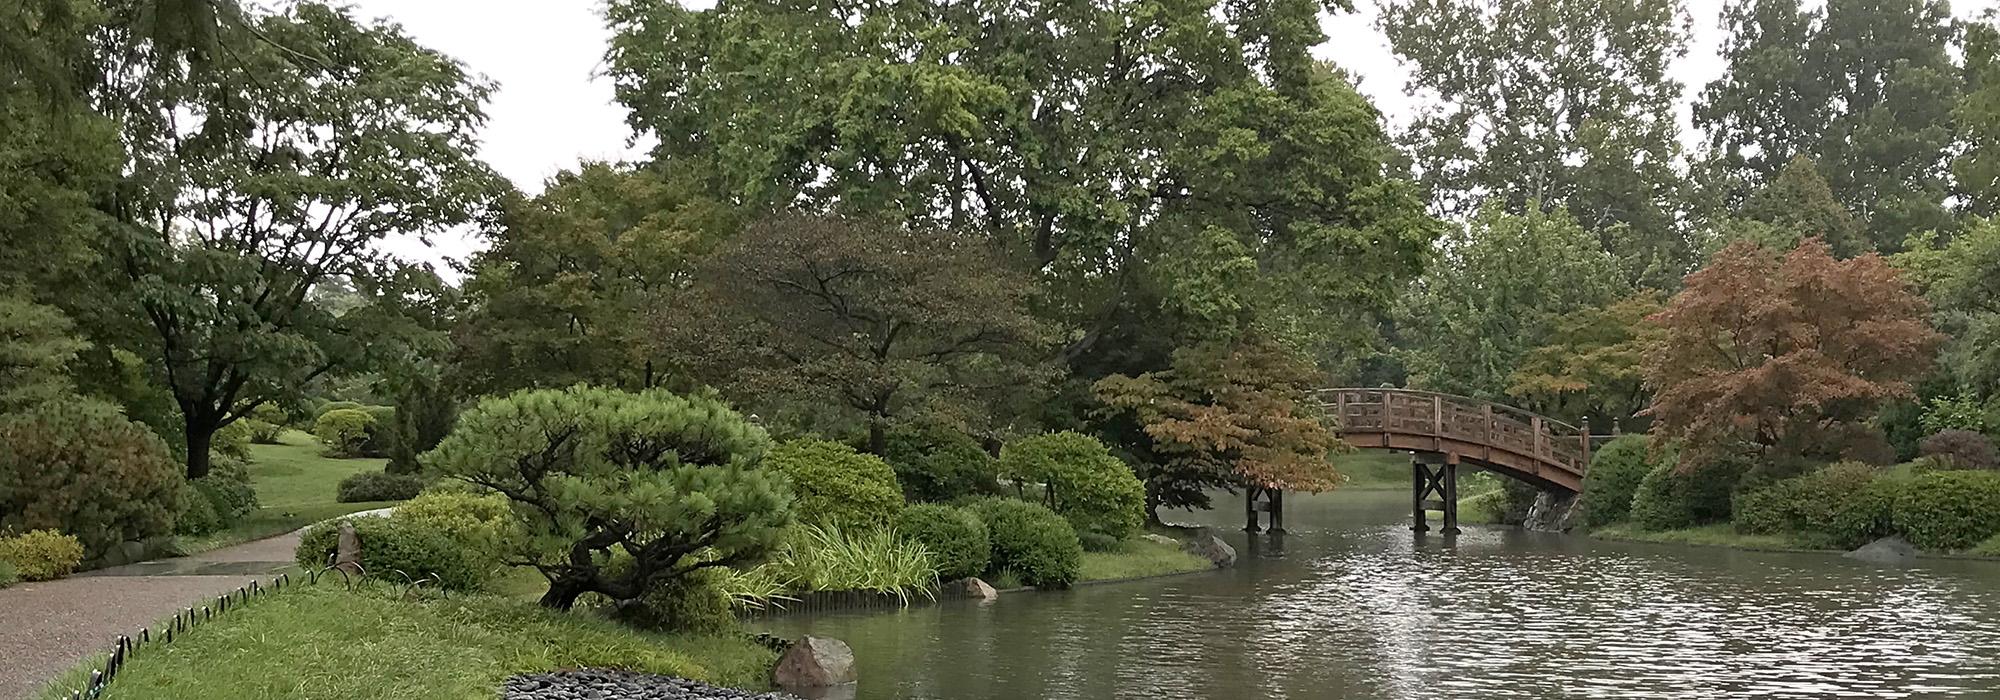
<svg viewBox="0 0 2000 700">
<path fill-rule="evenodd" d="M 624 108 L 612 102 L 610 80 L 598 78 L 610 32 L 598 16 L 598 2 L 584 0 L 348 0 L 360 18 L 388 18 L 418 42 L 442 50 L 500 84 L 488 104 L 488 124 L 480 156 L 526 192 L 580 160 L 630 160 L 646 144 L 628 146 Z M 712 6 L 712 0 L 684 2 Z M 1314 50 L 1360 78 L 1360 88 L 1388 116 L 1406 124 L 1416 104 L 1402 94 L 1404 70 L 1374 28 L 1374 0 L 1356 0 L 1358 14 L 1322 22 L 1330 40 Z M 1694 92 L 1722 74 L 1716 50 L 1722 32 L 1716 18 L 1722 0 L 1686 0 L 1694 18 L 1688 56 L 1674 66 L 1686 90 L 1682 126 Z M 2000 0 L 1962 0 L 1962 18 Z M 1692 134 L 1692 130 L 1688 130 Z M 468 230 L 446 234 L 424 248 L 416 240 L 388 244 L 400 256 L 442 262 L 464 260 L 480 248 Z M 446 272 L 446 270 L 440 270 Z M 446 272 L 448 274 L 448 272 Z"/>
</svg>

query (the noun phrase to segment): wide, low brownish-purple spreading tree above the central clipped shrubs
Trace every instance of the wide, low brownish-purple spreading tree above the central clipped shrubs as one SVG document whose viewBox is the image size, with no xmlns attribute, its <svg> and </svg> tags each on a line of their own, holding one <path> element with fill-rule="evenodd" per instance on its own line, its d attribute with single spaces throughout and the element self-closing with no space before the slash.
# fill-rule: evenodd
<svg viewBox="0 0 2000 700">
<path fill-rule="evenodd" d="M 880 456 L 896 422 L 980 422 L 982 394 L 1046 378 L 1028 290 L 984 238 L 788 214 L 704 260 L 656 328 L 696 376 L 840 412 Z"/>
</svg>

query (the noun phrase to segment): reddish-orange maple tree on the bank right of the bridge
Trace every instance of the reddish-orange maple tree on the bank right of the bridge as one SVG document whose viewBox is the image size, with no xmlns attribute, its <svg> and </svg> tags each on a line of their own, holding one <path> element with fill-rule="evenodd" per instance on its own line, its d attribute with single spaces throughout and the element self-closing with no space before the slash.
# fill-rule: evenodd
<svg viewBox="0 0 2000 700">
<path fill-rule="evenodd" d="M 1818 238 L 1782 258 L 1736 242 L 1652 320 L 1654 430 L 1692 454 L 1840 456 L 1882 400 L 1910 396 L 1940 340 L 1880 256 L 1836 260 Z"/>
</svg>

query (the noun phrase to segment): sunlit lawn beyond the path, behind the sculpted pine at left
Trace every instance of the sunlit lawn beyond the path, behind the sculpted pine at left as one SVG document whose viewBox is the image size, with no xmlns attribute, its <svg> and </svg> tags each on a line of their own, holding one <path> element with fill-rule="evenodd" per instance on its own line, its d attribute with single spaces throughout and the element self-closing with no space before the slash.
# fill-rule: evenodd
<svg viewBox="0 0 2000 700">
<path fill-rule="evenodd" d="M 320 456 L 320 442 L 298 430 L 286 430 L 280 442 L 250 446 L 250 486 L 256 488 L 258 510 L 252 510 L 228 530 L 200 538 L 182 538 L 180 548 L 184 552 L 208 552 L 286 534 L 350 512 L 394 506 L 394 502 L 334 502 L 334 488 L 342 478 L 360 472 L 380 472 L 388 460 L 336 460 Z"/>
</svg>

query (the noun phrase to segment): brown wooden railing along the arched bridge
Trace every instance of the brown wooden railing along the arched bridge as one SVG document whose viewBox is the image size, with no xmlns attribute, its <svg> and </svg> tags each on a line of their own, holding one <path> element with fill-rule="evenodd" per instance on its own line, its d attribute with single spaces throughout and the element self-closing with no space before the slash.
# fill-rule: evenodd
<svg viewBox="0 0 2000 700">
<path fill-rule="evenodd" d="M 1404 388 L 1330 388 L 1320 402 L 1340 432 L 1446 438 L 1522 454 L 1582 476 L 1590 430 L 1514 406 Z"/>
</svg>

